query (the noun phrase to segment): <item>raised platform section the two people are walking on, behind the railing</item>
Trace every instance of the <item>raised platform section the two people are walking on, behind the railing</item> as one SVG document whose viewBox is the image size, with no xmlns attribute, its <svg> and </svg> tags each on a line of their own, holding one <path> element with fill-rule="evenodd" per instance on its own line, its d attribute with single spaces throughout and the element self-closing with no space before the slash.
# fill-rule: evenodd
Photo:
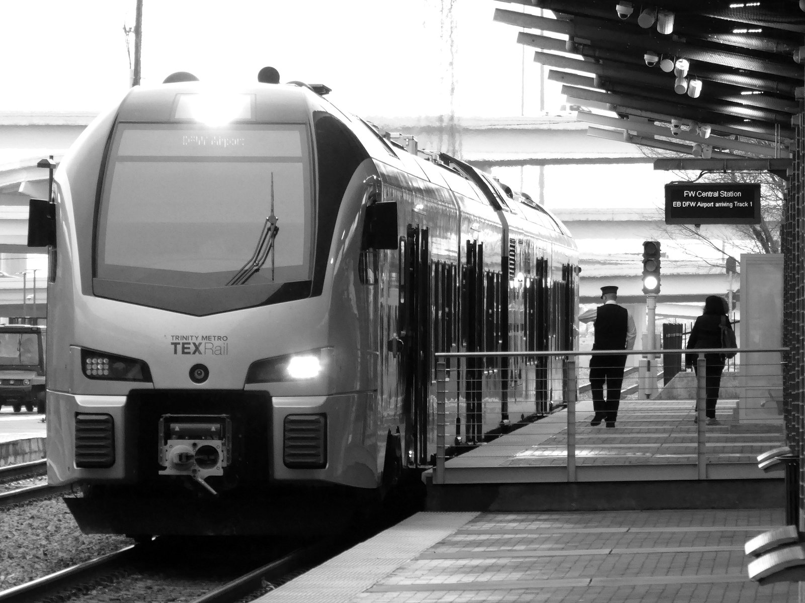
<svg viewBox="0 0 805 603">
<path fill-rule="evenodd" d="M 591 400 L 445 461 L 424 474 L 428 511 L 615 511 L 784 506 L 782 466 L 758 455 L 785 443 L 782 420 L 737 419 L 719 400 L 718 425 L 694 422 L 693 400 L 621 400 L 616 427 L 592 426 Z M 575 419 L 575 420 L 574 420 Z M 572 449 L 572 460 L 569 450 Z"/>
</svg>

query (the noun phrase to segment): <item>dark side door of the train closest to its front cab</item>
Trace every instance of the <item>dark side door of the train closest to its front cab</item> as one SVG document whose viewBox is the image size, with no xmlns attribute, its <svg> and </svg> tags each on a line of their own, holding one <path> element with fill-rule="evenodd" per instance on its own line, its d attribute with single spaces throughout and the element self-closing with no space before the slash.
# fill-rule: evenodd
<svg viewBox="0 0 805 603">
<path fill-rule="evenodd" d="M 400 332 L 404 334 L 405 445 L 409 465 L 428 462 L 427 409 L 431 357 L 431 265 L 427 228 L 408 225 L 400 284 Z"/>
</svg>

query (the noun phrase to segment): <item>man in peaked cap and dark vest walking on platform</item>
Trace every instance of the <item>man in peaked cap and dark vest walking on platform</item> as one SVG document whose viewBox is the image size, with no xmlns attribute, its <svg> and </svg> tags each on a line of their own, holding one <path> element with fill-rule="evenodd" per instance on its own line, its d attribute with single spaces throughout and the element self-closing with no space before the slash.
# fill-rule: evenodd
<svg viewBox="0 0 805 603">
<path fill-rule="evenodd" d="M 617 287 L 601 287 L 603 305 L 598 306 L 596 314 L 595 339 L 593 350 L 631 350 L 638 331 L 634 318 L 623 306 L 617 304 Z M 614 427 L 617 408 L 621 404 L 621 384 L 626 355 L 593 355 L 590 359 L 590 389 L 592 409 L 596 415 L 590 421 L 595 427 L 606 421 L 607 427 Z M 606 400 L 604 399 L 606 388 Z"/>
</svg>

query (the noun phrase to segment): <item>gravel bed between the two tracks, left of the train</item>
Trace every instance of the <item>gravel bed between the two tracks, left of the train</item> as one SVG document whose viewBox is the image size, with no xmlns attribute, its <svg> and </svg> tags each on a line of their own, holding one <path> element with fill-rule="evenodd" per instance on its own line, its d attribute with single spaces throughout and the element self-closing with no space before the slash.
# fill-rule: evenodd
<svg viewBox="0 0 805 603">
<path fill-rule="evenodd" d="M 81 532 L 61 498 L 0 509 L 0 590 L 134 544 Z"/>
</svg>

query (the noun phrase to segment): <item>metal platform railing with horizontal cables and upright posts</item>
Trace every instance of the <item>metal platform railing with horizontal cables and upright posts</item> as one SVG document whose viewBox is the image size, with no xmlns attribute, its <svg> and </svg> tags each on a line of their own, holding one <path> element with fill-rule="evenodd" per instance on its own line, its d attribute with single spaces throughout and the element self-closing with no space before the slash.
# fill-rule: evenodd
<svg viewBox="0 0 805 603">
<path fill-rule="evenodd" d="M 561 468 L 568 482 L 583 480 L 580 470 L 590 466 L 686 466 L 694 478 L 708 479 L 715 475 L 708 466 L 754 464 L 758 453 L 785 443 L 787 350 L 738 348 L 728 364 L 733 370 L 720 375 L 713 416 L 708 396 L 717 369 L 708 368 L 708 359 L 712 364 L 721 352 L 437 354 L 433 480 L 444 483 L 452 466 L 470 466 L 473 458 L 489 470 L 533 466 L 556 474 Z M 651 367 L 662 367 L 668 354 L 683 355 L 683 367 L 686 355 L 690 362 L 663 386 L 663 375 Z M 597 417 L 589 360 L 599 356 L 606 367 L 605 359 L 617 355 L 627 356 L 627 371 L 615 429 L 604 417 L 591 425 Z"/>
</svg>

